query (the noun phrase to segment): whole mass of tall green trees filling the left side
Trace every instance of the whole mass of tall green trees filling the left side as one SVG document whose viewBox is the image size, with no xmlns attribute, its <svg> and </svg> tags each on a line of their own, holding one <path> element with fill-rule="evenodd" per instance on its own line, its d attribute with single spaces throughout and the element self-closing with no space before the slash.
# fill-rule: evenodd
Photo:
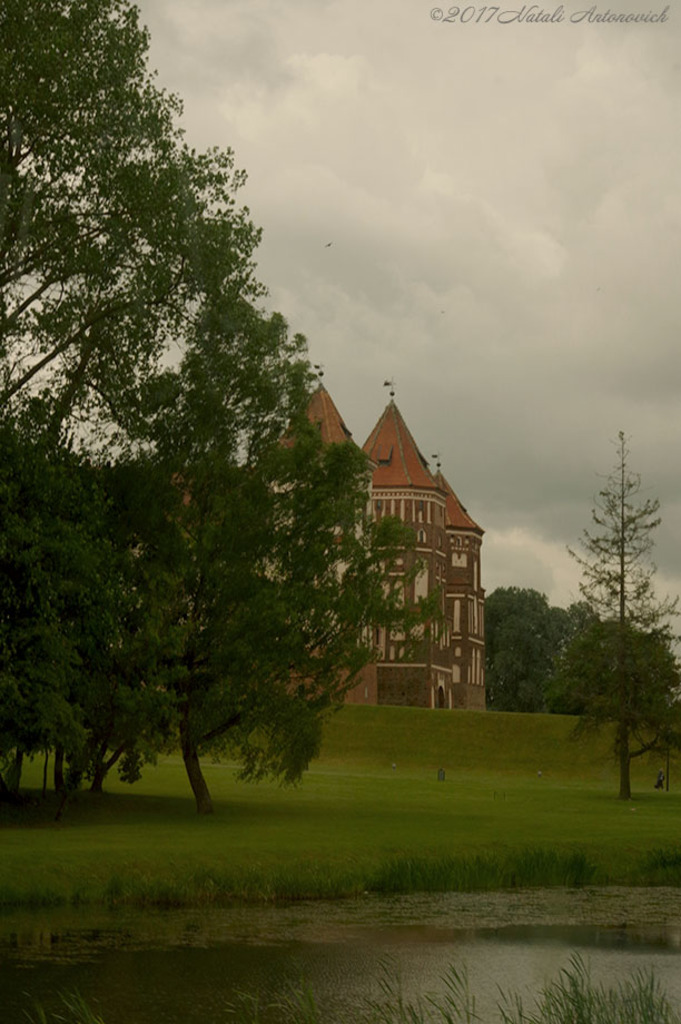
<svg viewBox="0 0 681 1024">
<path fill-rule="evenodd" d="M 66 800 L 172 746 L 208 813 L 202 755 L 296 779 L 408 628 L 408 538 L 307 422 L 244 174 L 147 49 L 127 0 L 0 9 L 0 798 L 26 757 Z"/>
</svg>

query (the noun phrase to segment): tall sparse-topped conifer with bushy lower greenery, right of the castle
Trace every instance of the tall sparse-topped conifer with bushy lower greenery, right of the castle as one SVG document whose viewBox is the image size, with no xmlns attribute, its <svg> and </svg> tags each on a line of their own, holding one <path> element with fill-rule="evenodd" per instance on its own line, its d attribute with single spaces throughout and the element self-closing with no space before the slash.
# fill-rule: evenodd
<svg viewBox="0 0 681 1024">
<path fill-rule="evenodd" d="M 568 650 L 564 673 L 574 680 L 585 724 L 614 724 L 620 799 L 631 799 L 631 762 L 670 742 L 676 730 L 678 668 L 669 616 L 676 601 L 655 599 L 650 559 L 659 502 L 641 497 L 621 431 L 616 462 L 599 493 L 594 531 L 583 535 L 582 594 L 600 622 Z"/>
</svg>

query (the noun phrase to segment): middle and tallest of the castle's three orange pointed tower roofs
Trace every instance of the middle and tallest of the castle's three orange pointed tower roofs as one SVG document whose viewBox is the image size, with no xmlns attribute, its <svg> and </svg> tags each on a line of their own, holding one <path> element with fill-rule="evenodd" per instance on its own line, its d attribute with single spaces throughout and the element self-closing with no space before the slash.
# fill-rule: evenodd
<svg viewBox="0 0 681 1024">
<path fill-rule="evenodd" d="M 390 401 L 372 430 L 364 451 L 376 464 L 375 487 L 418 487 L 437 490 L 435 478 L 402 415 Z"/>
</svg>

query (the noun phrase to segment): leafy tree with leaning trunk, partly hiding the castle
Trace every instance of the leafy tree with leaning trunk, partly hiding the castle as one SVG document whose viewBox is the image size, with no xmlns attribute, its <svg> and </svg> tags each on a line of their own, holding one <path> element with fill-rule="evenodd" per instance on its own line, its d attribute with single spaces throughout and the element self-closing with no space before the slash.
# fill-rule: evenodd
<svg viewBox="0 0 681 1024">
<path fill-rule="evenodd" d="M 295 781 L 373 656 L 370 628 L 407 615 L 386 587 L 406 528 L 368 521 L 364 453 L 324 445 L 307 421 L 301 340 L 286 341 L 280 317 L 247 321 L 226 330 L 218 316 L 193 338 L 168 372 L 155 444 L 128 467 L 130 494 L 147 495 L 140 566 L 148 586 L 163 581 L 155 685 L 173 696 L 200 813 L 212 811 L 204 754 L 228 750 L 244 778 Z"/>
</svg>

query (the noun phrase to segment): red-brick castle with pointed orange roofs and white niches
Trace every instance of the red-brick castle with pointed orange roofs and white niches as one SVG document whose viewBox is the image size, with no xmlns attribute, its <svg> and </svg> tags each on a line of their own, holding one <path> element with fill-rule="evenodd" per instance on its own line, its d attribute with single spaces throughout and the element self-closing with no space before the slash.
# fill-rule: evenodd
<svg viewBox="0 0 681 1024">
<path fill-rule="evenodd" d="M 327 443 L 352 435 L 327 389 L 310 399 L 309 419 Z M 471 519 L 439 466 L 433 474 L 394 400 L 390 399 L 364 445 L 371 467 L 370 501 L 375 518 L 398 516 L 416 535 L 414 551 L 397 562 L 421 570 L 408 585 L 407 600 L 439 593 L 443 614 L 437 630 L 407 651 L 403 637 L 377 628 L 377 660 L 348 692 L 351 703 L 483 710 L 484 590 L 480 582 L 483 530 Z"/>
</svg>

